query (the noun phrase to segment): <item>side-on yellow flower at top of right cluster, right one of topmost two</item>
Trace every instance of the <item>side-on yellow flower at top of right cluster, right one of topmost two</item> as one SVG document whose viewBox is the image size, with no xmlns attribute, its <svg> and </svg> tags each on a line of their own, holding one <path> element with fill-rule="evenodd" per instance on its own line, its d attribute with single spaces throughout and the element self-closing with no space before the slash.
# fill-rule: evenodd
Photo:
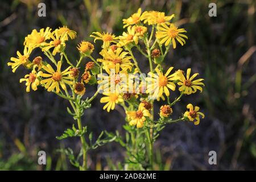
<svg viewBox="0 0 256 182">
<path fill-rule="evenodd" d="M 145 11 L 141 16 L 141 20 L 144 20 L 144 23 L 147 23 L 148 25 L 152 25 L 168 22 L 174 18 L 174 16 L 174 14 L 166 16 L 163 12 L 159 11 Z"/>
</svg>

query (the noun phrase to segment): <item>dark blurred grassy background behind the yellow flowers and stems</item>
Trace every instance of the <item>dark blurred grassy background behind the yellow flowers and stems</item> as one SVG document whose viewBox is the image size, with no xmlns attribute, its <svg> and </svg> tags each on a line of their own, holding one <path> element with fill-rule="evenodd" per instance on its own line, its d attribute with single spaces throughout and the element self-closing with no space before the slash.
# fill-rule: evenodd
<svg viewBox="0 0 256 182">
<path fill-rule="evenodd" d="M 37 14 L 39 2 L 46 3 L 46 17 Z M 217 3 L 217 17 L 208 16 L 210 2 Z M 205 119 L 199 126 L 178 123 L 163 130 L 155 143 L 156 169 L 255 170 L 255 6 L 254 0 L 1 1 L 0 169 L 73 170 L 67 156 L 58 149 L 71 147 L 78 154 L 80 148 L 79 139 L 55 138 L 72 126 L 73 119 L 66 111 L 68 102 L 42 88 L 26 93 L 19 78 L 27 71 L 18 69 L 13 74 L 7 67 L 10 57 L 23 50 L 24 37 L 34 28 L 67 25 L 77 31 L 77 39 L 69 41 L 67 48 L 68 55 L 75 60 L 79 56 L 77 43 L 83 39 L 92 41 L 89 35 L 93 31 L 122 34 L 122 19 L 141 7 L 175 14 L 174 22 L 187 30 L 187 43 L 168 53 L 166 68 L 192 68 L 192 72 L 205 78 L 202 94 L 184 97 L 174 108 L 174 118 L 179 117 L 191 102 L 200 106 Z M 100 45 L 96 43 L 96 58 L 98 51 Z M 137 56 L 142 70 L 147 72 L 147 61 Z M 86 96 L 92 96 L 95 90 L 95 86 L 86 88 Z M 92 108 L 85 110 L 83 125 L 88 125 L 96 135 L 104 129 L 123 134 L 121 107 L 108 114 L 99 101 L 97 97 Z M 37 163 L 39 150 L 47 153 L 46 166 Z M 211 150 L 217 152 L 217 165 L 208 164 Z M 107 144 L 89 152 L 89 169 L 116 169 L 124 155 L 118 144 Z"/>
</svg>

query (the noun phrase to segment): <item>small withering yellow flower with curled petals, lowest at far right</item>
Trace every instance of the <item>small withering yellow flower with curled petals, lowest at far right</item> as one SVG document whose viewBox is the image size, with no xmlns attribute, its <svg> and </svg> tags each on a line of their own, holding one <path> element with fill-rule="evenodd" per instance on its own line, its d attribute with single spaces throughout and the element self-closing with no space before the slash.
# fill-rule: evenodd
<svg viewBox="0 0 256 182">
<path fill-rule="evenodd" d="M 189 121 L 194 122 L 195 125 L 199 125 L 200 123 L 200 116 L 204 118 L 204 114 L 199 112 L 200 107 L 195 106 L 195 109 L 192 104 L 188 104 L 187 108 L 189 111 L 185 111 L 184 117 L 187 117 Z"/>
</svg>

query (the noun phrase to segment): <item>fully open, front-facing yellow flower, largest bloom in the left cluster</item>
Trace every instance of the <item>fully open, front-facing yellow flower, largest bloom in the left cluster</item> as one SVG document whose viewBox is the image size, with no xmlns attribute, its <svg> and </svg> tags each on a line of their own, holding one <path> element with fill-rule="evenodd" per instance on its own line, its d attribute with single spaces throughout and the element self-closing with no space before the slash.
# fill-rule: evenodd
<svg viewBox="0 0 256 182">
<path fill-rule="evenodd" d="M 60 86 L 63 90 L 66 90 L 65 84 L 73 85 L 74 78 L 69 76 L 71 71 L 68 67 L 64 71 L 61 72 L 61 61 L 57 63 L 57 70 L 54 71 L 51 65 L 47 64 L 46 66 L 43 65 L 42 67 L 47 73 L 42 73 L 42 77 L 46 77 L 46 79 L 40 81 L 40 84 L 45 84 L 44 87 L 47 89 L 48 92 L 56 89 L 56 92 L 60 92 Z"/>
</svg>

